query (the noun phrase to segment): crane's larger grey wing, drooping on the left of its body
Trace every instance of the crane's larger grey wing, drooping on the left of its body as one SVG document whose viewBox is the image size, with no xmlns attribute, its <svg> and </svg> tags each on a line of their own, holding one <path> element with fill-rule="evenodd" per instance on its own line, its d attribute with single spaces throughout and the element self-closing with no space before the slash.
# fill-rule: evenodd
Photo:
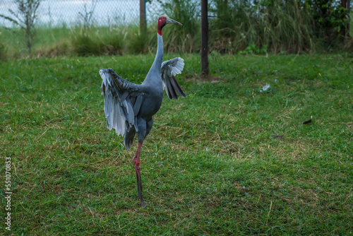
<svg viewBox="0 0 353 236">
<path fill-rule="evenodd" d="M 132 126 L 138 131 L 136 115 L 143 103 L 140 85 L 121 78 L 113 69 L 101 69 L 104 113 L 108 129 L 114 128 L 116 134 L 124 136 Z"/>
</svg>

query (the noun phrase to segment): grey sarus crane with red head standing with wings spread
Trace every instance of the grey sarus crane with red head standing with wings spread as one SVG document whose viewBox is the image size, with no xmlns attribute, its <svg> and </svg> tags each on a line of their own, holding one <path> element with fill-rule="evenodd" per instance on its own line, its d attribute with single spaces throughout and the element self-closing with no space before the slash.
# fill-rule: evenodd
<svg viewBox="0 0 353 236">
<path fill-rule="evenodd" d="M 129 150 L 137 134 L 138 149 L 133 157 L 136 171 L 138 199 L 143 206 L 142 184 L 140 177 L 140 150 L 145 137 L 150 133 L 153 115 L 160 110 L 165 89 L 169 99 L 177 99 L 177 93 L 185 98 L 175 75 L 184 69 L 184 59 L 180 57 L 164 61 L 162 28 L 168 23 L 181 25 L 166 15 L 158 18 L 157 54 L 150 71 L 140 85 L 121 78 L 113 69 L 101 69 L 104 113 L 108 129 L 114 128 L 116 134 L 124 136 L 124 145 Z"/>
</svg>

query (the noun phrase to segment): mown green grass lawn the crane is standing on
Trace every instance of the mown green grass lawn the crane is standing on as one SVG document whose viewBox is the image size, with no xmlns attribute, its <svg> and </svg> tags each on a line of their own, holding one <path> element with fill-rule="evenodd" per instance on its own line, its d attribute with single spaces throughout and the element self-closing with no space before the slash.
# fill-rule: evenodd
<svg viewBox="0 0 353 236">
<path fill-rule="evenodd" d="M 141 153 L 145 208 L 137 143 L 126 151 L 107 129 L 98 71 L 141 83 L 154 55 L 1 62 L 11 233 L 352 235 L 352 57 L 213 54 L 208 79 L 182 57 L 186 98 L 164 96 Z"/>
</svg>

